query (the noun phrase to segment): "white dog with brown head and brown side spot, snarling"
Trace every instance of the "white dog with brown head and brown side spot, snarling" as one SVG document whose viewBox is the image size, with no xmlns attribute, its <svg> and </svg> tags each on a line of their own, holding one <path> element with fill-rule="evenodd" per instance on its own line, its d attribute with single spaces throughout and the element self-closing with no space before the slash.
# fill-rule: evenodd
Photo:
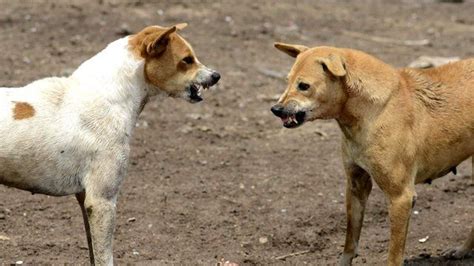
<svg viewBox="0 0 474 266">
<path fill-rule="evenodd" d="M 113 264 L 115 203 L 147 99 L 198 102 L 220 78 L 176 33 L 185 26 L 151 26 L 112 42 L 70 77 L 0 88 L 0 184 L 75 194 L 92 264 Z"/>
</svg>

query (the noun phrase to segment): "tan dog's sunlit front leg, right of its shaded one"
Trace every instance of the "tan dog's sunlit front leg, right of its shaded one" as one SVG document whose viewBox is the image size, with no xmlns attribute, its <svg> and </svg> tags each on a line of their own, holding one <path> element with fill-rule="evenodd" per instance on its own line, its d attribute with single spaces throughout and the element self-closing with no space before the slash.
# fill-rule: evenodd
<svg viewBox="0 0 474 266">
<path fill-rule="evenodd" d="M 413 197 L 413 189 L 406 189 L 398 195 L 389 196 L 390 247 L 388 265 L 399 266 L 403 262 L 405 241 L 408 232 Z"/>
</svg>

